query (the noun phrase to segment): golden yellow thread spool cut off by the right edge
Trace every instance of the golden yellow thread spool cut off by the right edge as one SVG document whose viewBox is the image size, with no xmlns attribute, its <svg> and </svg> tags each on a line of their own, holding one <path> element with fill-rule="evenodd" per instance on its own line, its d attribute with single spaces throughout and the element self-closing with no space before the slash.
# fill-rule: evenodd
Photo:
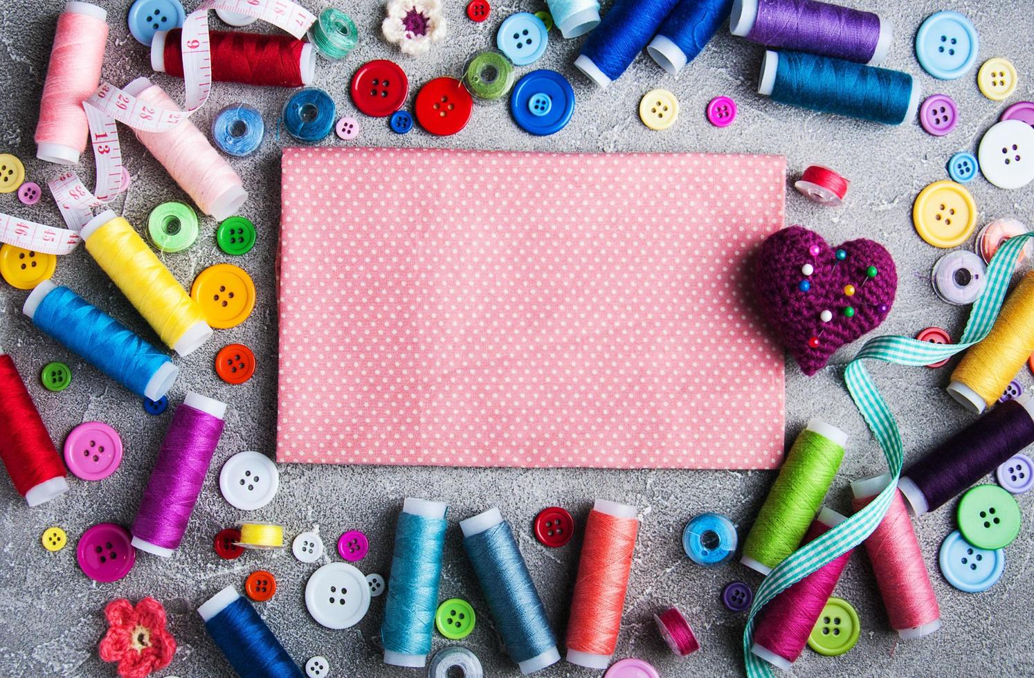
<svg viewBox="0 0 1034 678">
<path fill-rule="evenodd" d="M 966 351 L 948 393 L 975 412 L 991 407 L 1034 353 L 1034 271 L 1005 300 L 995 327 Z"/>
</svg>

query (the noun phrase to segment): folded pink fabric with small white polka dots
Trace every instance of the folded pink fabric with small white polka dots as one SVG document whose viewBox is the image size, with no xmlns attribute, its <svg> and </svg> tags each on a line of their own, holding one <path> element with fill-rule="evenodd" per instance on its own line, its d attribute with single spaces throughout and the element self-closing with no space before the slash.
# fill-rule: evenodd
<svg viewBox="0 0 1034 678">
<path fill-rule="evenodd" d="M 285 149 L 277 460 L 774 468 L 785 159 Z"/>
</svg>

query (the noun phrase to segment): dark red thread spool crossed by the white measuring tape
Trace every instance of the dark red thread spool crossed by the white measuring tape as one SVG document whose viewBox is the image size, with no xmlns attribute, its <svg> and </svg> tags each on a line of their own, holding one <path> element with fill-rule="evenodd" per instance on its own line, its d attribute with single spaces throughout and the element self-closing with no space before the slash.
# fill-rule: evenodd
<svg viewBox="0 0 1034 678">
<path fill-rule="evenodd" d="M 183 31 L 158 31 L 151 42 L 151 68 L 183 78 Z M 316 52 L 291 35 L 209 31 L 212 81 L 265 87 L 302 87 L 312 83 Z"/>
</svg>

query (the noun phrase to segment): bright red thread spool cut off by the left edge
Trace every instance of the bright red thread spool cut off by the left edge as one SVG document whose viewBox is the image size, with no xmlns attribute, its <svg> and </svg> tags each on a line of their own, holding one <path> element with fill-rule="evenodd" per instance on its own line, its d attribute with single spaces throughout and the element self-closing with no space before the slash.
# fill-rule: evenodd
<svg viewBox="0 0 1034 678">
<path fill-rule="evenodd" d="M 64 462 L 54 448 L 36 404 L 0 348 L 0 459 L 10 482 L 30 506 L 68 491 Z"/>
</svg>

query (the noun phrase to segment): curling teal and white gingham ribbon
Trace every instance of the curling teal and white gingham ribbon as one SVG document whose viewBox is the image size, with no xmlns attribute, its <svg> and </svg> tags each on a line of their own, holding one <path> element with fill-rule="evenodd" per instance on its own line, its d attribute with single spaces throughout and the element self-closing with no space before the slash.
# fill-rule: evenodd
<svg viewBox="0 0 1034 678">
<path fill-rule="evenodd" d="M 991 332 L 995 318 L 998 317 L 1020 251 L 1032 238 L 1034 233 L 1010 238 L 992 258 L 991 266 L 987 267 L 986 288 L 973 305 L 966 331 L 957 344 L 934 344 L 911 337 L 877 337 L 865 342 L 854 360 L 848 364 L 844 372 L 844 381 L 862 419 L 880 443 L 887 466 L 890 467 L 891 482 L 864 508 L 817 540 L 797 549 L 761 582 L 754 604 L 751 606 L 747 628 L 743 629 L 743 658 L 747 675 L 750 678 L 771 678 L 773 675 L 768 662 L 751 652 L 755 618 L 761 608 L 788 586 L 861 544 L 883 520 L 896 492 L 898 479 L 901 476 L 905 460 L 902 434 L 898 429 L 893 412 L 865 371 L 863 361 L 878 360 L 894 365 L 925 366 L 951 358 L 981 341 Z"/>
</svg>

